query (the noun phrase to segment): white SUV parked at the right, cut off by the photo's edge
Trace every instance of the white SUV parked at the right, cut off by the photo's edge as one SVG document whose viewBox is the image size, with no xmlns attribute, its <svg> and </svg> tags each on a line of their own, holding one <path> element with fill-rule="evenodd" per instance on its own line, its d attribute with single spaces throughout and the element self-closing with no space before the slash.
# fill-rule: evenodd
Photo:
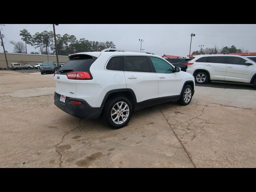
<svg viewBox="0 0 256 192">
<path fill-rule="evenodd" d="M 209 80 L 252 83 L 256 87 L 256 62 L 238 55 L 198 55 L 188 62 L 186 72 L 192 74 L 195 82 Z"/>
</svg>

